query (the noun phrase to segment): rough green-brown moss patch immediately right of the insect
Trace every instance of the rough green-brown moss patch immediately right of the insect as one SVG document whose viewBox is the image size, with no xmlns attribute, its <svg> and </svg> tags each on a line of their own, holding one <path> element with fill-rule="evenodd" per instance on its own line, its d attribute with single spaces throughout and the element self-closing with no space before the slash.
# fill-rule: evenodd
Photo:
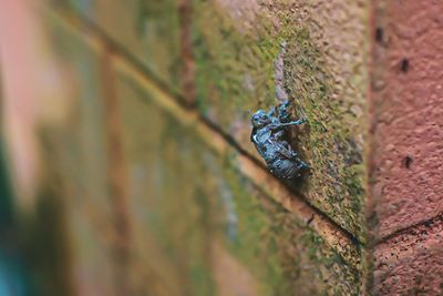
<svg viewBox="0 0 443 296">
<path fill-rule="evenodd" d="M 306 30 L 293 31 L 285 59 L 286 86 L 298 114 L 309 125 L 299 136 L 299 151 L 309 160 L 310 176 L 301 192 L 312 204 L 361 239 L 364 198 L 362 151 L 352 126 L 359 119 L 342 100 L 333 100 L 333 79 Z"/>
</svg>

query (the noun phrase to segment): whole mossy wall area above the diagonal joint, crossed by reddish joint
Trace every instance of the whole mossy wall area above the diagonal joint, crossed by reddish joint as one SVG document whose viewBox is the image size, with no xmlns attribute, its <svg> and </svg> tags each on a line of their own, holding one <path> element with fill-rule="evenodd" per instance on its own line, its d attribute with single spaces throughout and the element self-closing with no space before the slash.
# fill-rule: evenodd
<svg viewBox="0 0 443 296">
<path fill-rule="evenodd" d="M 364 241 L 368 3 L 154 2 L 70 6 L 169 88 L 182 85 L 187 102 L 195 99 L 205 118 L 257 159 L 248 110 L 289 98 L 309 121 L 293 143 L 311 166 L 302 186 L 290 185 Z"/>
</svg>

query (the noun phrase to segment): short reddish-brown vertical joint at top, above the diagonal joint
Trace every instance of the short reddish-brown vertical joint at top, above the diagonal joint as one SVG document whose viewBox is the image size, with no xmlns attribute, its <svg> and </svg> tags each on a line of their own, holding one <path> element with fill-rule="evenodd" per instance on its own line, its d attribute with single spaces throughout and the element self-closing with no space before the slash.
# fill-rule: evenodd
<svg viewBox="0 0 443 296">
<path fill-rule="evenodd" d="M 181 86 L 183 88 L 186 105 L 195 106 L 196 86 L 195 86 L 195 61 L 193 57 L 193 40 L 192 40 L 192 19 L 193 19 L 192 0 L 178 1 L 178 18 L 179 18 L 181 58 L 183 61 L 183 70 L 179 75 Z"/>
</svg>

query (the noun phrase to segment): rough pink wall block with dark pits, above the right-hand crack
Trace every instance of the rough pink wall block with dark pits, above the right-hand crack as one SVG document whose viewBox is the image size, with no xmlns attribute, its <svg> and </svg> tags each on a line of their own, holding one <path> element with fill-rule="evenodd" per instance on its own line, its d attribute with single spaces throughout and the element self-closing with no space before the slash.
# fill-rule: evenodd
<svg viewBox="0 0 443 296">
<path fill-rule="evenodd" d="M 383 237 L 443 211 L 443 3 L 378 2 L 373 202 Z"/>
</svg>

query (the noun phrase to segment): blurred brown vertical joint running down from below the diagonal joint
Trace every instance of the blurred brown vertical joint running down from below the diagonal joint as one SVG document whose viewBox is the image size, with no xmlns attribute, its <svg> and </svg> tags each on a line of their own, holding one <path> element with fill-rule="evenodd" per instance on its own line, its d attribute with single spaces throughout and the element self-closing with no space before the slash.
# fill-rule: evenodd
<svg viewBox="0 0 443 296">
<path fill-rule="evenodd" d="M 124 162 L 121 119 L 116 96 L 116 79 L 112 67 L 112 49 L 102 42 L 101 92 L 104 103 L 106 146 L 109 147 L 109 182 L 111 206 L 116 242 L 113 245 L 113 257 L 116 271 L 116 295 L 132 295 L 130 287 L 131 225 L 128 210 L 127 174 Z"/>
</svg>

